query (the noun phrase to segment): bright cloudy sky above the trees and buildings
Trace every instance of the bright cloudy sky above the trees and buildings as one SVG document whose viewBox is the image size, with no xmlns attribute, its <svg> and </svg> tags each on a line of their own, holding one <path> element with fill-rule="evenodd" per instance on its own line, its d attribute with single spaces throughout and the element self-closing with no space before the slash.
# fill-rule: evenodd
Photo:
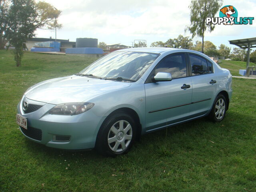
<svg viewBox="0 0 256 192">
<path fill-rule="evenodd" d="M 38 1 L 38 0 L 37 0 Z M 190 25 L 191 0 L 44 0 L 62 13 L 58 19 L 63 25 L 57 30 L 58 39 L 97 38 L 98 42 L 132 46 L 134 40 L 166 42 L 184 32 Z M 252 25 L 216 25 L 213 32 L 206 32 L 204 40 L 216 46 L 228 40 L 256 37 L 256 0 L 224 0 L 222 6 L 232 5 L 238 17 L 255 17 Z M 219 12 L 216 14 L 218 16 Z M 55 38 L 55 31 L 38 29 L 36 37 Z M 202 41 L 202 38 L 194 37 Z"/>
</svg>

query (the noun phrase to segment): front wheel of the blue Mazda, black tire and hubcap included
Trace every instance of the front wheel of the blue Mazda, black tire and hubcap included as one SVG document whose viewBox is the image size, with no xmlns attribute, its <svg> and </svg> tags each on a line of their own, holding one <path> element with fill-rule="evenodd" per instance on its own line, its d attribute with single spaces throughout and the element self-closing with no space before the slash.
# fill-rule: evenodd
<svg viewBox="0 0 256 192">
<path fill-rule="evenodd" d="M 100 127 L 96 150 L 105 156 L 127 153 L 136 138 L 136 123 L 132 117 L 119 112 L 108 117 Z"/>
</svg>

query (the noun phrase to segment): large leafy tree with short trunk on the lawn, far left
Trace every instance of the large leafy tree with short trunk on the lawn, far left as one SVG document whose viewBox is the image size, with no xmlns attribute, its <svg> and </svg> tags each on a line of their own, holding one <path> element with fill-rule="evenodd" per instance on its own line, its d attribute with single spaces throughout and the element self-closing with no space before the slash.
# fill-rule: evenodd
<svg viewBox="0 0 256 192">
<path fill-rule="evenodd" d="M 1 2 L 1 10 L 6 13 L 1 21 L 0 42 L 9 42 L 14 49 L 14 60 L 16 66 L 21 65 L 23 56 L 22 46 L 27 38 L 34 36 L 37 28 L 57 24 L 56 18 L 60 11 L 45 2 L 34 2 L 34 0 L 4 0 Z M 44 5 L 44 6 L 42 6 Z M 5 44 L 4 44 L 5 45 Z M 4 46 L 3 44 L 0 47 Z"/>
</svg>

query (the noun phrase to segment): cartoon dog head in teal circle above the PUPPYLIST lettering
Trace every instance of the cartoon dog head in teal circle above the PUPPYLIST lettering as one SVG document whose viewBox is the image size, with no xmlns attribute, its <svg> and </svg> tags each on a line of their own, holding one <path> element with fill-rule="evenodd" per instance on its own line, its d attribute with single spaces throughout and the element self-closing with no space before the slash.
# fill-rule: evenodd
<svg viewBox="0 0 256 192">
<path fill-rule="evenodd" d="M 224 18 L 224 25 L 233 25 L 234 18 L 237 16 L 237 10 L 232 5 L 226 5 L 220 9 L 220 17 Z"/>
</svg>

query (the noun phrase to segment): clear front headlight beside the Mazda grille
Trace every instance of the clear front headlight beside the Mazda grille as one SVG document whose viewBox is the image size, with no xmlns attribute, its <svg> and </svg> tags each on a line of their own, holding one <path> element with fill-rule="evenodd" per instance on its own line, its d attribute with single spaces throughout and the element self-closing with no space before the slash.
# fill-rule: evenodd
<svg viewBox="0 0 256 192">
<path fill-rule="evenodd" d="M 49 114 L 54 115 L 78 115 L 88 111 L 94 103 L 62 103 L 52 108 Z"/>
</svg>

